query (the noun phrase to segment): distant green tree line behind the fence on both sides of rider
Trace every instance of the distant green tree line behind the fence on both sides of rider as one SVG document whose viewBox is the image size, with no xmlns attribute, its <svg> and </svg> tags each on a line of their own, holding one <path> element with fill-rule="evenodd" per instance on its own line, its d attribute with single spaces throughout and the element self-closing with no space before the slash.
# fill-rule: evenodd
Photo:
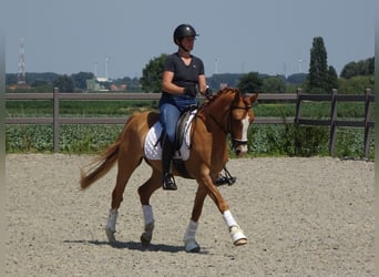
<svg viewBox="0 0 379 277">
<path fill-rule="evenodd" d="M 126 91 L 133 92 L 161 92 L 162 71 L 167 54 L 151 59 L 142 70 L 142 78 L 123 78 L 105 83 L 106 88 L 111 84 L 126 84 Z M 361 61 L 352 61 L 346 64 L 338 76 L 335 68 L 328 64 L 327 50 L 321 37 L 313 40 L 310 49 L 308 73 L 295 73 L 286 78 L 285 75 L 268 75 L 259 72 L 248 73 L 224 73 L 213 74 L 207 78 L 207 84 L 214 90 L 223 85 L 238 88 L 244 92 L 267 92 L 281 93 L 294 92 L 301 88 L 309 93 L 330 93 L 332 89 L 338 89 L 344 93 L 362 93 L 365 89 L 373 89 L 375 58 Z M 51 92 L 52 88 L 59 88 L 61 92 L 85 91 L 86 80 L 94 79 L 91 72 L 79 72 L 71 75 L 60 75 L 52 72 L 27 73 L 29 91 Z M 6 75 L 8 88 L 19 91 L 17 74 Z"/>
</svg>

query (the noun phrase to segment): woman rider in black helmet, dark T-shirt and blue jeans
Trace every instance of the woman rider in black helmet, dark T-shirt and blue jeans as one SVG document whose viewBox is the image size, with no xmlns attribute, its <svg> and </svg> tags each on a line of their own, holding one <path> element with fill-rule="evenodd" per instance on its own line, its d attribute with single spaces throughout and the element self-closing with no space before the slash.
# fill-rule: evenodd
<svg viewBox="0 0 379 277">
<path fill-rule="evenodd" d="M 163 70 L 160 121 L 166 134 L 162 148 L 164 189 L 177 189 L 170 173 L 177 120 L 188 106 L 198 104 L 198 91 L 206 93 L 203 61 L 191 54 L 197 35 L 192 25 L 178 25 L 173 35 L 174 43 L 178 47 L 177 52 L 167 57 Z"/>
</svg>

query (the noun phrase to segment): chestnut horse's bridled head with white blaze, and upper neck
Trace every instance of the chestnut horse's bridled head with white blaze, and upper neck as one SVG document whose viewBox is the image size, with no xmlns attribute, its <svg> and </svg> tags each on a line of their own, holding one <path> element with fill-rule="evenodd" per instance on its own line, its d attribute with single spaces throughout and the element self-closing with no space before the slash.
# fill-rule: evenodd
<svg viewBox="0 0 379 277">
<path fill-rule="evenodd" d="M 242 94 L 237 89 L 226 88 L 215 96 L 214 111 L 222 113 L 222 119 L 211 115 L 213 120 L 226 134 L 231 134 L 232 147 L 237 156 L 247 153 L 247 131 L 253 123 L 255 115 L 253 104 L 258 98 L 258 93 L 247 95 Z M 218 103 L 218 104 L 217 104 Z"/>
</svg>

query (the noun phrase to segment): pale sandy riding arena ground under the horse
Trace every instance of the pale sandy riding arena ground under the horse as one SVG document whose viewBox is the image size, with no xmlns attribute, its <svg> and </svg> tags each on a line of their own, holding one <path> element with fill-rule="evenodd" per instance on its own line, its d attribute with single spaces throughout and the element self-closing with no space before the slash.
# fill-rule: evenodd
<svg viewBox="0 0 379 277">
<path fill-rule="evenodd" d="M 79 166 L 92 156 L 9 154 L 7 276 L 373 276 L 373 163 L 331 157 L 232 160 L 237 176 L 221 192 L 248 244 L 233 246 L 222 215 L 207 198 L 199 254 L 183 236 L 194 181 L 153 195 L 152 245 L 140 244 L 136 189 L 150 176 L 142 164 L 119 211 L 116 238 L 104 227 L 116 170 L 80 191 Z"/>
</svg>

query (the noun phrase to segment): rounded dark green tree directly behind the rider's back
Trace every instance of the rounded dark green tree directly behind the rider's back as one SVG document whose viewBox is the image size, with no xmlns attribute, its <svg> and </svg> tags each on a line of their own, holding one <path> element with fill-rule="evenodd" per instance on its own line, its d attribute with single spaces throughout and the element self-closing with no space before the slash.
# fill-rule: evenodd
<svg viewBox="0 0 379 277">
<path fill-rule="evenodd" d="M 143 91 L 154 93 L 162 92 L 162 74 L 166 59 L 167 54 L 161 54 L 160 57 L 150 60 L 142 70 L 141 86 Z"/>
</svg>

